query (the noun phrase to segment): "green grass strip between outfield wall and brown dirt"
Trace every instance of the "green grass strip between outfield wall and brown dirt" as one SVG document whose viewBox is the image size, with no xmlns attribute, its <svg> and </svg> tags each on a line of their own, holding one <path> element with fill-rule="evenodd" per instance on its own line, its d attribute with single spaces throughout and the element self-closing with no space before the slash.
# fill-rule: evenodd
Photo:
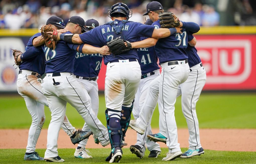
<svg viewBox="0 0 256 164">
<path fill-rule="evenodd" d="M 256 94 L 202 94 L 197 102 L 197 116 L 200 128 L 256 128 Z M 105 125 L 105 99 L 99 98 L 98 118 Z M 31 116 L 21 96 L 0 97 L 0 128 L 29 128 Z M 181 99 L 177 98 L 175 118 L 178 128 L 186 128 L 187 123 L 181 111 Z M 78 112 L 67 104 L 66 114 L 74 127 L 82 128 L 83 119 Z M 50 111 L 45 107 L 46 121 L 43 128 L 48 128 Z M 152 127 L 158 127 L 158 108 L 156 108 Z"/>
</svg>

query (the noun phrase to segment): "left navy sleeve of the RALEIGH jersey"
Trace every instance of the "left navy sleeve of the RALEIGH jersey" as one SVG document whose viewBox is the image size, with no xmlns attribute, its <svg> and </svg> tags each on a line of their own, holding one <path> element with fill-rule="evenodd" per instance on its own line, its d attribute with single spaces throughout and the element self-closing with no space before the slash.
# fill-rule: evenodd
<svg viewBox="0 0 256 164">
<path fill-rule="evenodd" d="M 79 34 L 80 39 L 82 40 L 83 43 L 87 44 L 94 44 L 94 45 L 99 45 L 99 36 L 98 34 L 100 33 L 99 28 L 94 28 L 91 29 L 88 32 L 84 32 L 82 34 Z M 99 45 L 100 46 L 100 45 Z"/>
</svg>

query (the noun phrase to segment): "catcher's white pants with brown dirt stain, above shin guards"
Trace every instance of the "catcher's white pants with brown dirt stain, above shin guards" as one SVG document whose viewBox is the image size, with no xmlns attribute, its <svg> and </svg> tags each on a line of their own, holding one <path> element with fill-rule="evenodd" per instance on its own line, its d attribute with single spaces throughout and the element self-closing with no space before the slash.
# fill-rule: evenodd
<svg viewBox="0 0 256 164">
<path fill-rule="evenodd" d="M 105 78 L 106 108 L 120 111 L 108 111 L 109 115 L 117 114 L 111 117 L 120 118 L 122 105 L 131 107 L 140 79 L 141 67 L 137 61 L 119 60 L 119 62 L 107 64 Z"/>
</svg>

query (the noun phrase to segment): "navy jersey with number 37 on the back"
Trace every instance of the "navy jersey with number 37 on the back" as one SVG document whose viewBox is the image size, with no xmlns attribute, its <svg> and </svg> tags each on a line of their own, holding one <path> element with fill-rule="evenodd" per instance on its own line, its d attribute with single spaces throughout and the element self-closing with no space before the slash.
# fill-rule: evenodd
<svg viewBox="0 0 256 164">
<path fill-rule="evenodd" d="M 161 28 L 159 19 L 152 26 Z M 182 29 L 182 33 L 175 33 L 166 38 L 158 39 L 155 50 L 160 63 L 174 60 L 185 60 L 188 58 L 186 48 L 188 45 L 187 31 Z"/>
</svg>

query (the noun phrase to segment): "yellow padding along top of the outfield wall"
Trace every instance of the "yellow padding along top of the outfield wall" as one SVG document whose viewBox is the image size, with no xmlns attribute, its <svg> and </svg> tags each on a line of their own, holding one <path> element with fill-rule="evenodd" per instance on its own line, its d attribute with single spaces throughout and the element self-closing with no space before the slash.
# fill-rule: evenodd
<svg viewBox="0 0 256 164">
<path fill-rule="evenodd" d="M 0 29 L 0 37 L 7 36 L 33 36 L 35 33 L 40 32 L 39 29 L 20 29 L 9 30 Z M 215 26 L 215 27 L 200 27 L 200 31 L 196 34 L 209 35 L 209 34 L 256 34 L 256 26 Z"/>
</svg>

